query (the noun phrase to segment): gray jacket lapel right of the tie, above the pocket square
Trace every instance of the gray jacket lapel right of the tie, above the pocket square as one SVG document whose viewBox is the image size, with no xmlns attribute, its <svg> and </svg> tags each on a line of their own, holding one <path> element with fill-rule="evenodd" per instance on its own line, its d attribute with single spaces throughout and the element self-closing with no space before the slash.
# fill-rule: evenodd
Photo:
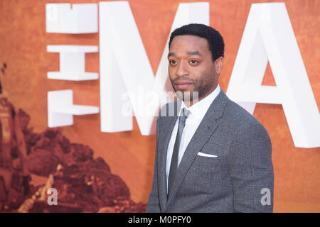
<svg viewBox="0 0 320 227">
<path fill-rule="evenodd" d="M 186 151 L 181 159 L 180 165 L 178 166 L 178 170 L 176 172 L 176 178 L 174 181 L 173 191 L 168 198 L 166 207 L 168 207 L 168 205 L 174 199 L 174 196 L 176 196 L 178 187 L 180 187 L 181 182 L 183 182 L 184 177 L 186 177 L 186 173 L 191 167 L 191 164 L 194 158 L 196 157 L 198 152 L 201 150 L 203 145 L 206 144 L 206 142 L 208 141 L 212 133 L 217 128 L 218 124 L 216 123 L 215 120 L 222 116 L 223 111 L 225 109 L 225 105 L 228 103 L 228 101 L 229 101 L 228 97 L 225 95 L 225 93 L 221 89 L 218 96 L 210 105 L 208 111 L 203 117 L 203 120 L 201 121 L 196 132 L 191 138 L 191 141 L 188 144 L 188 147 L 186 148 Z M 166 160 L 164 160 L 164 162 L 165 161 Z M 164 175 L 164 177 L 166 177 L 166 175 Z"/>
</svg>

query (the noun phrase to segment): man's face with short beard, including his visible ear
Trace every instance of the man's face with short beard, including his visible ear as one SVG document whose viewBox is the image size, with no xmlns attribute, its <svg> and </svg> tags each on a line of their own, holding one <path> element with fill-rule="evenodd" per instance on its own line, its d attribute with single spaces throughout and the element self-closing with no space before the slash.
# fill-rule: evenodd
<svg viewBox="0 0 320 227">
<path fill-rule="evenodd" d="M 169 77 L 179 99 L 185 100 L 189 94 L 192 101 L 192 92 L 198 92 L 201 100 L 217 87 L 223 57 L 213 62 L 205 38 L 177 35 L 171 42 L 168 60 Z"/>
</svg>

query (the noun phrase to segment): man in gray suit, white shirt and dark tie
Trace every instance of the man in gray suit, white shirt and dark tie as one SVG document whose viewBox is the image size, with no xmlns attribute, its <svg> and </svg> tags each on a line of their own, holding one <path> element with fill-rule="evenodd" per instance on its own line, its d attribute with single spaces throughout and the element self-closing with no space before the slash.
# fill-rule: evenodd
<svg viewBox="0 0 320 227">
<path fill-rule="evenodd" d="M 179 100 L 158 116 L 146 212 L 272 212 L 270 138 L 220 89 L 223 57 L 214 28 L 189 24 L 171 33 L 169 77 Z M 173 108 L 178 116 L 167 115 Z"/>
</svg>

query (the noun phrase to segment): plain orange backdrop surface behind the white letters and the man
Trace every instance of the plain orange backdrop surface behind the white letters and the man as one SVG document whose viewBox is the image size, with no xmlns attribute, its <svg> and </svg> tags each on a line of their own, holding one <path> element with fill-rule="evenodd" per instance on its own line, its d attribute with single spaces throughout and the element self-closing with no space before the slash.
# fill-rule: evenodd
<svg viewBox="0 0 320 227">
<path fill-rule="evenodd" d="M 75 104 L 99 106 L 99 80 L 70 82 L 47 79 L 48 71 L 59 70 L 58 53 L 46 45 L 99 45 L 99 34 L 46 33 L 46 3 L 98 3 L 96 0 L 0 1 L 0 63 L 8 68 L 4 89 L 16 109 L 31 116 L 36 132 L 46 130 L 47 92 L 73 89 Z M 178 0 L 131 0 L 129 4 L 144 47 L 156 72 L 174 20 Z M 233 70 L 247 15 L 252 3 L 272 1 L 210 0 L 210 26 L 225 39 L 225 65 L 220 87 L 226 91 Z M 311 87 L 320 106 L 320 1 L 284 1 L 297 38 Z M 139 56 L 138 56 L 139 57 Z M 103 62 L 102 62 L 103 63 Z M 99 53 L 86 55 L 87 72 L 99 72 Z M 267 67 L 263 84 L 274 84 Z M 282 106 L 257 104 L 254 116 L 267 128 L 272 140 L 274 163 L 274 211 L 320 211 L 320 148 L 295 148 Z M 132 199 L 146 203 L 151 190 L 155 135 L 142 136 L 134 119 L 134 130 L 102 133 L 100 115 L 75 116 L 74 125 L 63 128 L 73 143 L 89 145 L 95 157 L 103 157 L 114 174 L 127 183 Z M 320 135 L 319 135 L 320 136 Z"/>
</svg>

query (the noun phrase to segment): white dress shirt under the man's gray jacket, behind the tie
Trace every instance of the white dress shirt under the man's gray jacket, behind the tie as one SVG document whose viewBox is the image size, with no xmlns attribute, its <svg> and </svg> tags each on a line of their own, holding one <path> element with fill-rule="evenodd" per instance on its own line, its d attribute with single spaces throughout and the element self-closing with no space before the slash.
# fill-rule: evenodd
<svg viewBox="0 0 320 227">
<path fill-rule="evenodd" d="M 193 134 L 196 132 L 196 129 L 200 125 L 203 116 L 205 116 L 206 112 L 209 109 L 210 104 L 215 100 L 215 97 L 218 96 L 220 92 L 219 85 L 215 88 L 213 92 L 211 92 L 208 96 L 201 99 L 201 101 L 198 101 L 196 104 L 193 104 L 189 108 L 186 107 L 186 104 L 182 100 L 181 101 L 181 109 L 179 111 L 178 116 L 181 116 L 181 112 L 183 108 L 188 109 L 190 111 L 190 114 L 188 115 L 188 118 L 186 119 L 186 125 L 183 128 L 183 132 L 181 135 L 181 142 L 180 142 L 180 148 L 178 153 L 178 165 L 180 164 L 180 161 L 183 157 L 183 154 L 188 147 L 188 144 L 193 137 Z M 174 143 L 176 142 L 176 134 L 178 131 L 178 118 L 176 120 L 176 123 L 174 125 L 174 130 L 171 133 L 171 138 L 169 141 L 168 146 L 168 153 L 166 155 L 166 188 L 168 192 L 168 180 L 169 180 L 169 172 L 170 172 L 170 165 L 171 165 L 171 157 L 172 153 L 174 153 Z"/>
</svg>

